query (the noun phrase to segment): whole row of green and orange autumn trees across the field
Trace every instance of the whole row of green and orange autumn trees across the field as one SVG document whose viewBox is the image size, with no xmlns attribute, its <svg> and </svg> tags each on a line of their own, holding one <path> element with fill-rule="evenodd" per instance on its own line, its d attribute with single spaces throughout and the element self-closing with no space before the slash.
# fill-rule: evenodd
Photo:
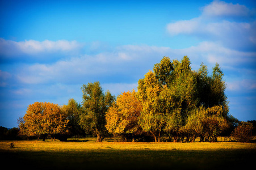
<svg viewBox="0 0 256 170">
<path fill-rule="evenodd" d="M 137 91 L 115 97 L 94 82 L 81 87 L 82 104 L 70 99 L 62 106 L 29 105 L 19 118 L 20 134 L 61 141 L 95 134 L 96 142 L 101 142 L 114 134 L 125 141 L 194 142 L 200 137 L 202 142 L 216 142 L 219 135 L 230 135 L 239 122 L 229 114 L 223 76 L 218 63 L 209 75 L 203 63 L 192 70 L 187 56 L 181 61 L 163 57 L 139 80 Z"/>
</svg>

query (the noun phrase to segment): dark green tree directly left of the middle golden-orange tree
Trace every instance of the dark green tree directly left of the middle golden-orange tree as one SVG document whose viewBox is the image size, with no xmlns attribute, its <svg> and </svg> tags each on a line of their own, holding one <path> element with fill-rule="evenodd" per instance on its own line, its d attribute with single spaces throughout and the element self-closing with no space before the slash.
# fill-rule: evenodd
<svg viewBox="0 0 256 170">
<path fill-rule="evenodd" d="M 106 112 L 111 107 L 115 96 L 110 91 L 103 93 L 99 82 L 83 84 L 83 109 L 79 125 L 87 132 L 93 132 L 97 135 L 96 142 L 102 142 L 107 133 L 106 130 Z"/>
</svg>

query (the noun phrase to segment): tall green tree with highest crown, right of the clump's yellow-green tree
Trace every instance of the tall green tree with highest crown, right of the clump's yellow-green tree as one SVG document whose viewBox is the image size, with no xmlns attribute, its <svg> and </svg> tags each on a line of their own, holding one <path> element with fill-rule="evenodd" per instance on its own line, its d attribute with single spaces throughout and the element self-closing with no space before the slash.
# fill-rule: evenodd
<svg viewBox="0 0 256 170">
<path fill-rule="evenodd" d="M 169 65 L 170 69 L 166 69 L 166 65 Z M 169 57 L 163 57 L 161 62 L 154 66 L 154 70 L 158 73 L 157 78 L 162 78 L 159 82 L 162 84 L 161 101 L 165 103 L 166 111 L 164 130 L 173 135 L 175 142 L 183 134 L 182 127 L 189 111 L 198 104 L 196 74 L 191 71 L 190 65 L 190 59 L 184 56 L 181 62 L 170 61 Z M 164 87 L 165 84 L 167 88 Z"/>
</svg>

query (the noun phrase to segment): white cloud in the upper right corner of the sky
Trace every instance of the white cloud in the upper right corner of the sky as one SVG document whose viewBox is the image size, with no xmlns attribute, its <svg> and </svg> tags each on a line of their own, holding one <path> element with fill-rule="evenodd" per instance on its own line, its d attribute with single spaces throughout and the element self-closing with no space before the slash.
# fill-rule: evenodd
<svg viewBox="0 0 256 170">
<path fill-rule="evenodd" d="M 198 18 L 169 23 L 166 30 L 171 36 L 191 35 L 204 41 L 219 41 L 227 48 L 251 51 L 256 49 L 255 18 L 250 22 L 240 22 L 239 19 L 230 20 L 226 17 L 248 14 L 250 18 L 249 12 L 250 10 L 242 5 L 213 1 L 203 8 L 203 13 Z"/>
</svg>

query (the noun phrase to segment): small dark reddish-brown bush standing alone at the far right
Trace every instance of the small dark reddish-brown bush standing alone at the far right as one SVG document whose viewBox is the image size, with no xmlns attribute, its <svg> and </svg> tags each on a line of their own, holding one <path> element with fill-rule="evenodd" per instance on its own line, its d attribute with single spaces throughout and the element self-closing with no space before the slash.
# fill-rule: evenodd
<svg viewBox="0 0 256 170">
<path fill-rule="evenodd" d="M 238 142 L 250 142 L 253 138 L 253 124 L 250 122 L 240 122 L 231 135 Z"/>
</svg>

